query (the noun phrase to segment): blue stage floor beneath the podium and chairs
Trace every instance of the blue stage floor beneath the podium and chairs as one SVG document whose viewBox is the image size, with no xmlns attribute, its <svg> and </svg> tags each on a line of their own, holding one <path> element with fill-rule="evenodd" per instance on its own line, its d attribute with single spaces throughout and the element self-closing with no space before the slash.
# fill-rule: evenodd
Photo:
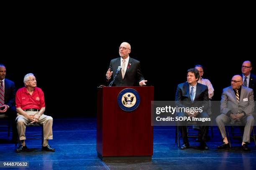
<svg viewBox="0 0 256 170">
<path fill-rule="evenodd" d="M 36 127 L 38 128 L 38 127 Z M 28 152 L 15 153 L 14 144 L 6 132 L 0 133 L 0 161 L 26 161 L 33 170 L 254 170 L 256 148 L 253 140 L 246 153 L 239 140 L 232 148 L 218 150 L 221 137 L 217 127 L 214 138 L 207 142 L 210 150 L 199 150 L 195 138 L 189 138 L 192 148 L 180 150 L 175 143 L 175 127 L 154 127 L 154 155 L 151 162 L 104 163 L 97 158 L 96 119 L 54 119 L 54 140 L 49 144 L 56 152 L 41 151 L 40 140 L 26 140 Z M 33 132 L 34 131 L 34 132 Z M 40 133 L 29 127 L 26 133 Z M 209 130 L 210 135 L 210 130 Z M 11 136 L 11 135 L 10 135 Z M 182 139 L 180 140 L 182 143 Z M 5 168 L 0 168 L 0 170 Z M 18 168 L 6 168 L 14 170 Z M 24 168 L 25 169 L 25 168 Z"/>
</svg>

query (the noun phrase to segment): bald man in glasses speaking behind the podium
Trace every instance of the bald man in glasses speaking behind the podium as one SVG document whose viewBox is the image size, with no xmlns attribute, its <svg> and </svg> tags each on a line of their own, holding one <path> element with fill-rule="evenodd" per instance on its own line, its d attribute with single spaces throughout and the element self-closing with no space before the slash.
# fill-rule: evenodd
<svg viewBox="0 0 256 170">
<path fill-rule="evenodd" d="M 147 80 L 142 75 L 141 64 L 129 56 L 131 52 L 131 45 L 128 42 L 123 42 L 119 47 L 120 57 L 110 61 L 109 69 L 106 73 L 107 81 L 113 80 L 115 74 L 113 71 L 121 67 L 118 72 L 113 86 L 143 86 L 146 85 Z"/>
</svg>

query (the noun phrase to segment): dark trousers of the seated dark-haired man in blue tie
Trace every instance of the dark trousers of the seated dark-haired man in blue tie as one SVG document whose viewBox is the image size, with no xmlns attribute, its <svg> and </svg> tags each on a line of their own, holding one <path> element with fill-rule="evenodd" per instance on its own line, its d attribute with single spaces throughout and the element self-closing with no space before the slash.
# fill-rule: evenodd
<svg viewBox="0 0 256 170">
<path fill-rule="evenodd" d="M 188 115 L 184 112 L 178 112 L 177 113 L 178 117 L 188 117 Z M 197 115 L 197 117 L 209 117 L 207 112 L 202 112 Z M 183 138 L 183 143 L 189 143 L 188 138 L 187 138 L 187 126 L 179 126 L 181 128 L 181 133 L 182 133 L 182 138 Z M 209 126 L 200 126 L 201 129 L 199 130 L 200 134 L 200 141 L 206 142 L 207 140 L 207 135 L 208 135 L 208 130 Z"/>
</svg>

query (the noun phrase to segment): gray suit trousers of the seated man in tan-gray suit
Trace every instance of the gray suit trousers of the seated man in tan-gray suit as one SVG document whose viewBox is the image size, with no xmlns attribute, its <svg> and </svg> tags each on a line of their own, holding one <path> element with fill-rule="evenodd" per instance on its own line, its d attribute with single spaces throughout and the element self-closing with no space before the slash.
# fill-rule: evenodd
<svg viewBox="0 0 256 170">
<path fill-rule="evenodd" d="M 254 118 L 252 115 L 248 115 L 248 116 L 243 117 L 243 119 L 241 119 L 241 121 L 245 125 L 244 131 L 243 131 L 243 142 L 249 143 L 251 130 L 254 125 Z M 225 124 L 228 122 L 231 122 L 231 118 L 224 114 L 218 115 L 218 117 L 216 118 L 216 123 L 218 125 L 218 128 L 220 130 L 220 133 L 221 133 L 221 136 L 223 139 L 225 137 L 227 138 Z"/>
</svg>

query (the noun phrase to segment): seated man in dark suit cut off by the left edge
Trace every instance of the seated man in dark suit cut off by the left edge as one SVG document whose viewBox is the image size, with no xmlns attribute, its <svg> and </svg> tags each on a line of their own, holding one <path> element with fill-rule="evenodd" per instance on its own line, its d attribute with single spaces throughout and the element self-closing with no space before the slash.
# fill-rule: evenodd
<svg viewBox="0 0 256 170">
<path fill-rule="evenodd" d="M 12 122 L 13 138 L 16 142 L 17 128 L 16 128 L 16 107 L 15 107 L 15 85 L 14 82 L 5 78 L 5 65 L 0 64 L 0 115 L 8 115 Z"/>
</svg>

